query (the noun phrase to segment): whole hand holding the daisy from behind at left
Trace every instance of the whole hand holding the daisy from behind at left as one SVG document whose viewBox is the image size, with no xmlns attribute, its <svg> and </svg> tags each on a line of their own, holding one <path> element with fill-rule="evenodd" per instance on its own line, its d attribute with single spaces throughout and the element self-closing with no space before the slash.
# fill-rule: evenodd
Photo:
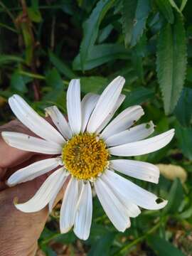
<svg viewBox="0 0 192 256">
<path fill-rule="evenodd" d="M 3 131 L 23 132 L 34 134 L 26 127 L 14 120 L 0 127 Z M 36 154 L 20 149 L 15 149 L 2 139 L 0 135 L 0 255 L 1 256 L 32 256 L 36 254 L 38 238 L 43 231 L 48 218 L 48 207 L 46 206 L 37 213 L 23 213 L 14 206 L 14 199 L 19 203 L 28 201 L 48 174 L 44 174 L 33 181 L 18 184 L 9 188 L 6 180 L 18 169 L 28 166 L 35 161 L 50 158 L 43 154 Z M 58 194 L 55 204 L 60 201 L 65 191 L 65 185 Z"/>
</svg>

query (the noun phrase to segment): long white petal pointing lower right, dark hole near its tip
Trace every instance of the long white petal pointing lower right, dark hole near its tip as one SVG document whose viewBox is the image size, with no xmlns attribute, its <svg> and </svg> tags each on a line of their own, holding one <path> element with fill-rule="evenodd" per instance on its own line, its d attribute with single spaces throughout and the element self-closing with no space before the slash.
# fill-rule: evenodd
<svg viewBox="0 0 192 256">
<path fill-rule="evenodd" d="M 127 199 L 137 206 L 149 210 L 158 210 L 166 206 L 166 200 L 156 203 L 158 199 L 156 195 L 128 181 L 126 178 L 115 174 L 114 171 L 106 170 L 105 173 L 110 183 L 113 183 L 113 186 L 118 189 L 119 193 L 127 197 Z"/>
</svg>

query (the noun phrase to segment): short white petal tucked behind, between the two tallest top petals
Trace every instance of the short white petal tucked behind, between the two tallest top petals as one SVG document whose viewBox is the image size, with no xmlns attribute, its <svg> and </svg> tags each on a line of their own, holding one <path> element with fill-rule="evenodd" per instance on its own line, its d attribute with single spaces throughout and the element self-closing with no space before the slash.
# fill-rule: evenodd
<svg viewBox="0 0 192 256">
<path fill-rule="evenodd" d="M 81 127 L 81 132 L 84 132 L 87 123 L 90 119 L 90 115 L 92 111 L 95 108 L 95 105 L 97 104 L 97 101 L 99 100 L 100 95 L 95 95 L 93 93 L 87 93 L 85 97 L 83 97 L 82 102 L 81 102 L 81 111 L 82 111 L 82 127 Z"/>
</svg>

